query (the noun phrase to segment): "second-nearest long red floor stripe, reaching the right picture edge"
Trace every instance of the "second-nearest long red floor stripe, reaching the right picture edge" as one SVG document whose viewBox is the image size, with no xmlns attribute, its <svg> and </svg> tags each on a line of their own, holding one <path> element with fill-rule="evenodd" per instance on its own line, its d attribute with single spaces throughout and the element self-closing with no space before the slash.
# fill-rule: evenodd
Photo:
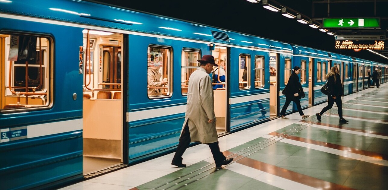
<svg viewBox="0 0 388 190">
<path fill-rule="evenodd" d="M 279 134 L 280 133 L 277 133 L 277 132 L 269 133 L 269 135 L 274 135 L 274 136 L 279 135 Z M 319 146 L 328 147 L 328 148 L 332 148 L 332 149 L 343 150 L 343 151 L 351 152 L 354 154 L 366 155 L 366 156 L 374 157 L 377 159 L 388 160 L 387 155 L 379 154 L 379 153 L 371 152 L 371 151 L 367 151 L 367 150 L 359 150 L 359 149 L 355 149 L 355 148 L 345 147 L 342 145 L 336 145 L 336 144 L 332 144 L 332 143 L 311 140 L 311 139 L 302 138 L 302 137 L 298 137 L 298 136 L 287 136 L 286 138 L 291 139 L 291 140 L 297 140 L 300 142 L 313 144 L 313 145 L 319 145 Z"/>
</svg>

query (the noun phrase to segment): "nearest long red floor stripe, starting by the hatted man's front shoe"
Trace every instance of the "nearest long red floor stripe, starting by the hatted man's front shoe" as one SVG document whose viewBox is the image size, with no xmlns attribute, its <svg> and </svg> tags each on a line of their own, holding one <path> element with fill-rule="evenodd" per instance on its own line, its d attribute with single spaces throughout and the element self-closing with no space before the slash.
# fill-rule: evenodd
<svg viewBox="0 0 388 190">
<path fill-rule="evenodd" d="M 225 151 L 225 155 L 231 155 L 232 152 Z M 239 156 L 241 157 L 241 155 Z M 235 159 L 239 159 L 239 157 L 236 157 Z M 310 187 L 314 187 L 317 189 L 335 189 L 335 190 L 351 190 L 350 187 L 345 187 L 343 185 L 338 185 L 335 183 L 331 183 L 328 181 L 320 180 L 311 176 L 307 176 L 305 174 L 296 173 L 294 171 L 280 168 L 271 164 L 267 164 L 264 162 L 257 161 L 255 159 L 250 159 L 248 157 L 245 157 L 239 161 L 237 161 L 239 164 L 243 164 L 245 166 L 249 166 L 251 168 L 258 169 L 260 171 L 264 171 L 270 174 L 273 174 L 275 176 L 279 176 L 288 180 L 292 180 Z"/>
</svg>

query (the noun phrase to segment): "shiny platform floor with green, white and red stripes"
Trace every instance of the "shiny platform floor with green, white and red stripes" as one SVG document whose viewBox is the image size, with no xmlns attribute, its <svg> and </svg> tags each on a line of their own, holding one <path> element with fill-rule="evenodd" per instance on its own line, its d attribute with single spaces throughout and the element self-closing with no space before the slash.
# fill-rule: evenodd
<svg viewBox="0 0 388 190">
<path fill-rule="evenodd" d="M 61 190 L 381 190 L 388 187 L 388 85 L 343 97 L 339 124 L 327 102 L 222 136 L 223 154 L 234 161 L 216 169 L 200 144 L 183 155 L 186 168 L 171 165 L 174 153 L 76 183 Z"/>
</svg>

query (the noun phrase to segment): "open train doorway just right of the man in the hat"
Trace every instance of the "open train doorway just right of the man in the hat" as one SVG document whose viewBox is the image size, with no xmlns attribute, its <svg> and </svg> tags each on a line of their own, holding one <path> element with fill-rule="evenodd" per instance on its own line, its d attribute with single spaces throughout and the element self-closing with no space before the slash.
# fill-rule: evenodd
<svg viewBox="0 0 388 190">
<path fill-rule="evenodd" d="M 227 125 L 227 102 L 228 88 L 227 77 L 229 67 L 229 48 L 223 46 L 215 46 L 211 51 L 218 67 L 215 67 L 212 72 L 213 90 L 214 90 L 214 111 L 216 114 L 216 129 L 218 134 L 228 132 Z"/>
</svg>

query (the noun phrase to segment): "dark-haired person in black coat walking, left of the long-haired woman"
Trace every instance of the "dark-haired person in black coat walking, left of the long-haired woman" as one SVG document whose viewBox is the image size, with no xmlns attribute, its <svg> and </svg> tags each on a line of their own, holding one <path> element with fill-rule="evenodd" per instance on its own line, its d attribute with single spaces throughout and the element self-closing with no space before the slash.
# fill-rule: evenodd
<svg viewBox="0 0 388 190">
<path fill-rule="evenodd" d="M 302 119 L 306 119 L 310 115 L 303 114 L 302 107 L 300 106 L 300 99 L 305 97 L 305 93 L 303 92 L 302 85 L 299 82 L 298 74 L 300 73 L 300 67 L 295 66 L 292 69 L 292 73 L 290 78 L 288 79 L 288 83 L 284 88 L 282 94 L 286 95 L 286 103 L 283 106 L 282 111 L 280 112 L 280 116 L 282 119 L 289 119 L 286 117 L 286 110 L 288 105 L 293 101 L 296 104 L 296 108 Z"/>
</svg>

